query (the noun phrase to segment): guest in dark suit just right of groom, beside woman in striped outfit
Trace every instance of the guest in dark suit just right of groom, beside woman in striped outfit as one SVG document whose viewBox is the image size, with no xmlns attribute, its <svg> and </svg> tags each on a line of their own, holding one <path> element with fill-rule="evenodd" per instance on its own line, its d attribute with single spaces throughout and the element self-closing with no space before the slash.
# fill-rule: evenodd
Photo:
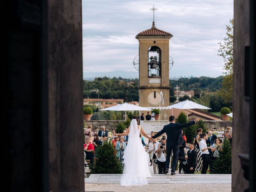
<svg viewBox="0 0 256 192">
<path fill-rule="evenodd" d="M 187 166 L 186 166 L 186 174 L 194 174 L 195 169 L 196 169 L 196 158 L 197 158 L 197 153 L 194 150 L 194 144 L 190 143 L 188 145 L 188 157 L 186 158 L 187 160 Z"/>
</svg>

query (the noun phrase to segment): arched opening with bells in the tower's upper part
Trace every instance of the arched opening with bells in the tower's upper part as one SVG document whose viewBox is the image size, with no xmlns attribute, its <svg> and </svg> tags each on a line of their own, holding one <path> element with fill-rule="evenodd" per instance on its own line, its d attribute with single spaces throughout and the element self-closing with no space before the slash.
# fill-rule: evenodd
<svg viewBox="0 0 256 192">
<path fill-rule="evenodd" d="M 158 46 L 148 49 L 148 76 L 161 76 L 161 49 Z"/>
</svg>

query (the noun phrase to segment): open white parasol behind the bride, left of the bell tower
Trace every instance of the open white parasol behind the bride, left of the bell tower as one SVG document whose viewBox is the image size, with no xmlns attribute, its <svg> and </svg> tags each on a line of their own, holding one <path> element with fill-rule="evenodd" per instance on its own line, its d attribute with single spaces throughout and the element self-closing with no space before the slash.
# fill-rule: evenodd
<svg viewBox="0 0 256 192">
<path fill-rule="evenodd" d="M 118 104 L 112 107 L 101 109 L 100 111 L 125 111 L 125 120 L 126 120 L 126 111 L 152 111 L 152 110 L 149 108 L 140 107 L 137 105 L 123 103 L 123 104 Z"/>
</svg>

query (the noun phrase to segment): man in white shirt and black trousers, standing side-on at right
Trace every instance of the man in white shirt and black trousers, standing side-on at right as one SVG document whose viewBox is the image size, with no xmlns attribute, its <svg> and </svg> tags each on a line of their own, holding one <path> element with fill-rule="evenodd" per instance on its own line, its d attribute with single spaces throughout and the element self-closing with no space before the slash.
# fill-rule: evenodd
<svg viewBox="0 0 256 192">
<path fill-rule="evenodd" d="M 208 138 L 207 133 L 202 133 L 202 140 L 199 143 L 199 148 L 200 148 L 200 151 L 202 154 L 202 160 L 203 160 L 201 174 L 206 174 L 209 167 L 210 156 L 209 156 L 208 149 L 212 149 L 212 147 L 207 147 L 207 144 L 206 144 L 207 138 Z"/>
</svg>

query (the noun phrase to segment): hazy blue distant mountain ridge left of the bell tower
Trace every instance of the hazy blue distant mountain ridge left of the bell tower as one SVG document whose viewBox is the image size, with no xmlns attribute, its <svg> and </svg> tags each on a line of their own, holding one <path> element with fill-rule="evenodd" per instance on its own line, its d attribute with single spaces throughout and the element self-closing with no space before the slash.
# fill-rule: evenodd
<svg viewBox="0 0 256 192">
<path fill-rule="evenodd" d="M 108 78 L 122 77 L 127 79 L 134 79 L 134 78 L 139 78 L 139 72 L 116 70 L 111 72 L 84 72 L 83 73 L 84 80 L 94 80 L 94 78 L 96 77 L 105 77 L 105 76 Z"/>
</svg>

